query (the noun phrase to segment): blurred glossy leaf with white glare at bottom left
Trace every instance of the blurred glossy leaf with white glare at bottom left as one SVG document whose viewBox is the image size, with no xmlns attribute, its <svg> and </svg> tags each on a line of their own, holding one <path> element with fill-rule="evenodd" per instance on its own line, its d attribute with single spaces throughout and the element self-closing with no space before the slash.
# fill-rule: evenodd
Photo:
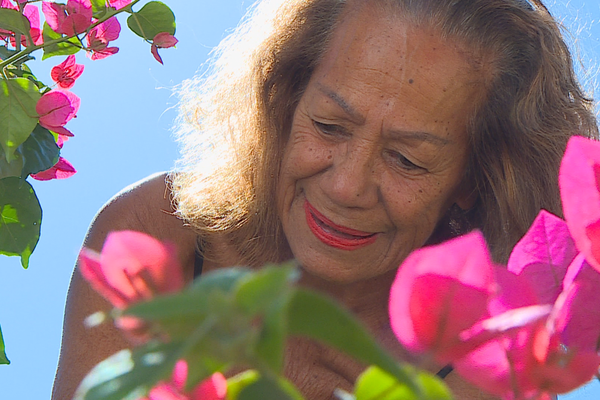
<svg viewBox="0 0 600 400">
<path fill-rule="evenodd" d="M 96 365 L 83 379 L 73 400 L 122 400 L 143 396 L 171 375 L 180 343 L 152 343 L 122 350 Z"/>
</svg>

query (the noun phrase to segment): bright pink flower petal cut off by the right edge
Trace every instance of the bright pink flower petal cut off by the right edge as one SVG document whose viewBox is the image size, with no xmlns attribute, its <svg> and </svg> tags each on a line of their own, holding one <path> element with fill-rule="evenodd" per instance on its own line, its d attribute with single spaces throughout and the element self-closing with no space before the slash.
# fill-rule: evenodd
<svg viewBox="0 0 600 400">
<path fill-rule="evenodd" d="M 600 271 L 600 142 L 578 136 L 569 140 L 559 184 L 575 244 Z"/>
</svg>

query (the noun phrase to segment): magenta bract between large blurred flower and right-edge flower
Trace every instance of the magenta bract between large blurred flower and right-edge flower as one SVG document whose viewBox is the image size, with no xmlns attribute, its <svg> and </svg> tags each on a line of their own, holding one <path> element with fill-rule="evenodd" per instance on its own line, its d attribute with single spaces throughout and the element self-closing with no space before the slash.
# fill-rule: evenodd
<svg viewBox="0 0 600 400">
<path fill-rule="evenodd" d="M 507 268 L 529 281 L 539 304 L 553 304 L 577 253 L 567 223 L 542 210 L 514 247 Z"/>
</svg>

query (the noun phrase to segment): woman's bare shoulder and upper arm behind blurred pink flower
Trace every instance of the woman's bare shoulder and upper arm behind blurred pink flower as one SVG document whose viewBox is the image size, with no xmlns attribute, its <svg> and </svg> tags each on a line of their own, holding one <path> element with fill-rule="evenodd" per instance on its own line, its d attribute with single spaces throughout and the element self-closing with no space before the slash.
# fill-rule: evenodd
<svg viewBox="0 0 600 400">
<path fill-rule="evenodd" d="M 196 235 L 172 214 L 165 178 L 164 173 L 153 175 L 111 199 L 94 218 L 84 246 L 99 252 L 111 231 L 142 231 L 173 242 L 178 247 L 184 274 L 191 280 Z M 81 380 L 97 363 L 130 346 L 111 323 L 90 329 L 84 326 L 83 321 L 88 315 L 111 308 L 81 277 L 76 267 L 67 295 L 53 400 L 70 399 Z"/>
</svg>

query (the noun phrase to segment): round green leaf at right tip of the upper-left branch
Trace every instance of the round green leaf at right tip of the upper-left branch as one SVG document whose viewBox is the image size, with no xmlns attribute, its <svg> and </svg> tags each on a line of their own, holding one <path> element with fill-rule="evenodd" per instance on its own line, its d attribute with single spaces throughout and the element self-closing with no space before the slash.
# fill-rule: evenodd
<svg viewBox="0 0 600 400">
<path fill-rule="evenodd" d="M 164 3 L 151 1 L 127 18 L 127 26 L 136 35 L 152 40 L 161 32 L 175 34 L 175 14 Z"/>
</svg>

